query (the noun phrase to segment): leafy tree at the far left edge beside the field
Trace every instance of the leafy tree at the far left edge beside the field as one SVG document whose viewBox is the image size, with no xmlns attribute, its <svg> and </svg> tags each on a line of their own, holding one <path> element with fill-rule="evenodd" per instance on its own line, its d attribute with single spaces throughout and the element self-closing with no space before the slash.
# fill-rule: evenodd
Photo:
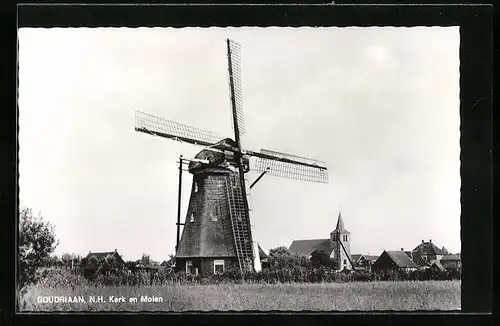
<svg viewBox="0 0 500 326">
<path fill-rule="evenodd" d="M 44 222 L 41 214 L 33 216 L 30 208 L 22 208 L 19 213 L 19 256 L 18 288 L 37 282 L 37 270 L 47 266 L 59 244 L 54 226 Z"/>
</svg>

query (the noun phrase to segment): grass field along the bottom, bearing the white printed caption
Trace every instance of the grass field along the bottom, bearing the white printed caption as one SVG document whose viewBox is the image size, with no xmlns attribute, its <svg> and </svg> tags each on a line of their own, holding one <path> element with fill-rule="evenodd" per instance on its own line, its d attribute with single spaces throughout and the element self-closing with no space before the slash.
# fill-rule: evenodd
<svg viewBox="0 0 500 326">
<path fill-rule="evenodd" d="M 83 303 L 39 303 L 49 296 L 83 296 Z M 103 296 L 104 303 L 90 303 Z M 109 296 L 125 302 L 109 302 Z M 140 302 L 155 296 L 163 302 Z M 137 297 L 138 302 L 129 302 Z M 189 311 L 189 310 L 459 310 L 460 281 L 322 284 L 221 284 L 43 288 L 23 297 L 22 311 Z"/>
</svg>

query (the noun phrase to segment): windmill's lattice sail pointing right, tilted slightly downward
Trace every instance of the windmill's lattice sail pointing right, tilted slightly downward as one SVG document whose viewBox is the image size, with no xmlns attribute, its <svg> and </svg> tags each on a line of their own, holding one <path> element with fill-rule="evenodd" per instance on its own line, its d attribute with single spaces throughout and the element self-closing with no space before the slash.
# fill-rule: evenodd
<svg viewBox="0 0 500 326">
<path fill-rule="evenodd" d="M 267 174 L 276 177 L 328 183 L 328 171 L 324 162 L 266 149 L 247 154 L 257 157 L 254 170 L 258 172 L 269 168 Z"/>
</svg>

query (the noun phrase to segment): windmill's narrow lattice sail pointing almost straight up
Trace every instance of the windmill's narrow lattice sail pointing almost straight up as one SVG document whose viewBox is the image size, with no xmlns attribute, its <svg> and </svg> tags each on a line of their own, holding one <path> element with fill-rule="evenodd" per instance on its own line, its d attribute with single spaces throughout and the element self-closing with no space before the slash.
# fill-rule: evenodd
<svg viewBox="0 0 500 326">
<path fill-rule="evenodd" d="M 241 46 L 237 42 L 227 40 L 229 91 L 233 115 L 233 128 L 238 135 L 245 134 L 245 121 L 243 116 L 243 96 L 241 85 Z M 236 123 L 236 126 L 234 125 Z M 237 137 L 239 138 L 239 137 Z"/>
</svg>

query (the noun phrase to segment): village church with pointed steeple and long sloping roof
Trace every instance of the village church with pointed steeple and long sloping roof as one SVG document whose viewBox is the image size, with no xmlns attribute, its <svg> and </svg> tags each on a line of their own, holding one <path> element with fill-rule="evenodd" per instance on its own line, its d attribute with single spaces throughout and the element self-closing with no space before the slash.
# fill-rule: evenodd
<svg viewBox="0 0 500 326">
<path fill-rule="evenodd" d="M 351 234 L 344 227 L 341 213 L 337 219 L 337 227 L 330 232 L 329 239 L 294 240 L 289 250 L 308 257 L 315 250 L 321 250 L 335 260 L 337 269 L 352 269 L 349 259 L 351 257 Z"/>
</svg>

